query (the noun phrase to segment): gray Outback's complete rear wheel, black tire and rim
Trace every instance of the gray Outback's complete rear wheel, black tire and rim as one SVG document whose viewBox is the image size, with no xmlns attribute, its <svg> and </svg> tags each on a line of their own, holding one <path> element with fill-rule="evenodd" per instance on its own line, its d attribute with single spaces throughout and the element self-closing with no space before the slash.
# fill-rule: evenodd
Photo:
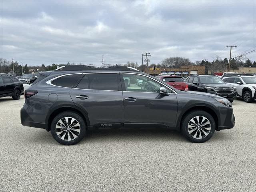
<svg viewBox="0 0 256 192">
<path fill-rule="evenodd" d="M 51 133 L 53 138 L 60 144 L 74 145 L 86 135 L 86 123 L 82 116 L 76 112 L 62 112 L 52 120 Z"/>
</svg>

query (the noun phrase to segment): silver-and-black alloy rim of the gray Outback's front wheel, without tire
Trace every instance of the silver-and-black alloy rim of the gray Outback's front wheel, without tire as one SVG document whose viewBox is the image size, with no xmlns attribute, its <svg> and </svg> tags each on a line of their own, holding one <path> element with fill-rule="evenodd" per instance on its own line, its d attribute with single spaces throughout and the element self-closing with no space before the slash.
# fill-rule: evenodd
<svg viewBox="0 0 256 192">
<path fill-rule="evenodd" d="M 188 122 L 188 133 L 195 139 L 205 138 L 211 131 L 211 123 L 204 116 L 193 117 Z"/>
</svg>

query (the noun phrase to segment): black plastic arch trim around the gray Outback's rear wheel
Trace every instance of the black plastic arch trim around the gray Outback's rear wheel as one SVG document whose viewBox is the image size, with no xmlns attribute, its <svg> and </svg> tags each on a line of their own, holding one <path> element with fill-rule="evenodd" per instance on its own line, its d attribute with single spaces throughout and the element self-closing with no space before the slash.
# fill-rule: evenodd
<svg viewBox="0 0 256 192">
<path fill-rule="evenodd" d="M 73 110 L 73 111 L 78 111 L 78 112 L 80 112 L 81 114 L 82 114 L 82 117 L 86 120 L 86 125 L 87 126 L 90 126 L 90 120 L 89 120 L 89 118 L 88 118 L 88 112 L 87 111 L 85 111 L 85 110 L 83 110 L 82 108 L 80 108 L 80 107 L 78 107 L 78 106 L 76 106 L 76 105 L 74 105 L 74 104 L 57 104 L 56 106 L 53 106 L 52 108 L 50 108 L 49 109 L 49 113 L 48 113 L 48 115 L 46 116 L 46 120 L 45 120 L 45 122 L 46 122 L 46 124 L 47 124 L 47 126 L 46 126 L 46 130 L 47 131 L 50 131 L 50 126 L 51 125 L 49 125 L 48 124 L 48 121 L 50 120 L 50 118 L 52 118 L 51 116 L 52 116 L 52 114 L 54 114 L 54 112 L 56 112 L 56 111 L 58 111 L 58 110 L 60 110 L 60 109 L 64 109 L 64 108 L 70 108 L 71 110 Z"/>
</svg>

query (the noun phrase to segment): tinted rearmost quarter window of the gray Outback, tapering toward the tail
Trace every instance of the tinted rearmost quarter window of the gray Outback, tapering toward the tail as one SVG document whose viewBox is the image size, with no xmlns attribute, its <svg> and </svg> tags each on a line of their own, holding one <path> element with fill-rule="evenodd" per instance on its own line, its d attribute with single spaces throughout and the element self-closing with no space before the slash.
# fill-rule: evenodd
<svg viewBox="0 0 256 192">
<path fill-rule="evenodd" d="M 53 85 L 60 86 L 60 87 L 72 88 L 78 81 L 78 78 L 80 77 L 80 75 L 81 74 L 65 75 L 53 80 L 51 83 Z"/>
</svg>

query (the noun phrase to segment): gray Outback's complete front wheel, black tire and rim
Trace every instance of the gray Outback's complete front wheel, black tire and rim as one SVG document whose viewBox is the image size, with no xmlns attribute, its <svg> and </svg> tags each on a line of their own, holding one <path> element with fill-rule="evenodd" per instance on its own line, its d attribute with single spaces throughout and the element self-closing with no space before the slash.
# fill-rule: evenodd
<svg viewBox="0 0 256 192">
<path fill-rule="evenodd" d="M 200 124 L 198 124 L 198 118 Z M 182 119 L 181 130 L 190 142 L 203 143 L 212 137 L 215 127 L 214 118 L 209 113 L 203 110 L 194 110 Z"/>
</svg>

